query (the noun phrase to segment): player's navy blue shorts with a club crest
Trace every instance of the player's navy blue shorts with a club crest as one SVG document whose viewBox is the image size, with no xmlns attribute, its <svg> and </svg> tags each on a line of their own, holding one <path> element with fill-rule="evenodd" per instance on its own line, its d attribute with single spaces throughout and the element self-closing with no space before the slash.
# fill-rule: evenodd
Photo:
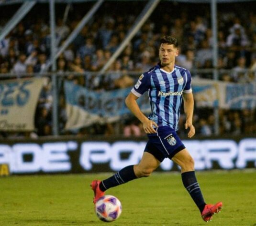
<svg viewBox="0 0 256 226">
<path fill-rule="evenodd" d="M 149 141 L 145 152 L 153 154 L 162 162 L 165 158 L 171 159 L 175 154 L 185 148 L 176 131 L 169 126 L 156 128 L 156 134 L 147 134 Z"/>
</svg>

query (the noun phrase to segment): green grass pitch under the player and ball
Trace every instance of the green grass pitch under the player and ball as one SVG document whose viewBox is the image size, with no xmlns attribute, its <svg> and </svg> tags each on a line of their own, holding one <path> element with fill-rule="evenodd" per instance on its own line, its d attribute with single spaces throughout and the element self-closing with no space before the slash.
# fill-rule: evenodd
<svg viewBox="0 0 256 226">
<path fill-rule="evenodd" d="M 197 172 L 207 203 L 223 202 L 209 223 L 182 185 L 179 173 L 154 173 L 111 188 L 122 202 L 122 215 L 98 220 L 89 187 L 111 174 L 0 177 L 1 226 L 256 226 L 256 172 Z"/>
</svg>

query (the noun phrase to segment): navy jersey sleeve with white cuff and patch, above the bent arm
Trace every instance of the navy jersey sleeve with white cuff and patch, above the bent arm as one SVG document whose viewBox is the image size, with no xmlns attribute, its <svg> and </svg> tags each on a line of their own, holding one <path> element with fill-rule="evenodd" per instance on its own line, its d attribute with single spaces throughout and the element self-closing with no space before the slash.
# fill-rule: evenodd
<svg viewBox="0 0 256 226">
<path fill-rule="evenodd" d="M 144 73 L 139 77 L 138 81 L 135 83 L 131 92 L 135 96 L 140 97 L 144 92 L 148 91 L 149 88 L 150 88 L 150 75 L 148 73 Z"/>
</svg>

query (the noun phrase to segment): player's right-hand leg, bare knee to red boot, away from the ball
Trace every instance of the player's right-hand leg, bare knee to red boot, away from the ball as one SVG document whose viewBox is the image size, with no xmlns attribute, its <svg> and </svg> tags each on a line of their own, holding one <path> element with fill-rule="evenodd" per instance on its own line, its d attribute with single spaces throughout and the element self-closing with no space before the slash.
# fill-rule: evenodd
<svg viewBox="0 0 256 226">
<path fill-rule="evenodd" d="M 210 221 L 211 216 L 220 211 L 222 203 L 219 202 L 215 205 L 206 205 L 204 202 L 203 195 L 195 175 L 194 160 L 186 148 L 175 154 L 171 160 L 181 167 L 183 185 L 200 209 L 203 220 Z"/>
</svg>

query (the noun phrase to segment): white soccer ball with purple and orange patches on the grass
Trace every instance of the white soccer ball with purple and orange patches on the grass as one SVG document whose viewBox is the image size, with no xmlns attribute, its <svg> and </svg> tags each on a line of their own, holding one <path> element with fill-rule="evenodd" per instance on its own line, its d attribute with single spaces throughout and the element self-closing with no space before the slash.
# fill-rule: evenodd
<svg viewBox="0 0 256 226">
<path fill-rule="evenodd" d="M 95 204 L 95 213 L 102 221 L 114 221 L 122 213 L 121 202 L 113 195 L 104 195 L 97 200 Z"/>
</svg>

